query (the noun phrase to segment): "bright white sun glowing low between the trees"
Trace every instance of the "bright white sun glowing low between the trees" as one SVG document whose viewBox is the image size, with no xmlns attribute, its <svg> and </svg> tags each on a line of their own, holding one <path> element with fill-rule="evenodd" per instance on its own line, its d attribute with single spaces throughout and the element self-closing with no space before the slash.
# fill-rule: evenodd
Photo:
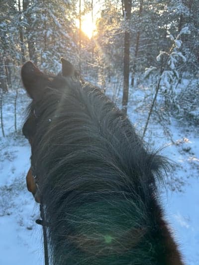
<svg viewBox="0 0 199 265">
<path fill-rule="evenodd" d="M 91 39 L 96 32 L 96 24 L 92 21 L 92 14 L 82 16 L 82 31 Z"/>
</svg>

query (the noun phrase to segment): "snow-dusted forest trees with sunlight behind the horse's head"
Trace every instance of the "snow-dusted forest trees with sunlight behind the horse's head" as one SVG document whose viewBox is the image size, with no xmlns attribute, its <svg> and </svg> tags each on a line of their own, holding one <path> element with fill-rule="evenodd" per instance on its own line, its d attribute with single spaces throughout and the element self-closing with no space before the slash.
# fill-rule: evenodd
<svg viewBox="0 0 199 265">
<path fill-rule="evenodd" d="M 163 123 L 174 115 L 198 124 L 198 85 L 178 90 L 183 78 L 199 76 L 198 7 L 198 0 L 1 0 L 1 105 L 3 93 L 21 86 L 24 62 L 58 73 L 64 57 L 84 78 L 111 85 L 114 101 L 122 93 L 124 111 L 129 86 L 133 92 L 147 79 L 148 120 L 156 112 Z"/>
</svg>

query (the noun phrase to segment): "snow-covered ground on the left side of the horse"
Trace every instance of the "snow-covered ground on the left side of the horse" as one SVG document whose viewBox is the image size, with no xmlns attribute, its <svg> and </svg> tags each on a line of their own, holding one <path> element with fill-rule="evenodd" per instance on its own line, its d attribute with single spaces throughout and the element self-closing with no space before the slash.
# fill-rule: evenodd
<svg viewBox="0 0 199 265">
<path fill-rule="evenodd" d="M 10 93 L 6 99 L 9 103 L 5 103 L 4 96 L 6 137 L 3 138 L 0 132 L 0 265 L 41 265 L 42 228 L 35 223 L 39 210 L 25 182 L 30 166 L 30 147 L 21 135 L 23 111 L 28 99 L 19 91 L 19 131 L 16 134 L 13 122 L 14 94 Z"/>
</svg>

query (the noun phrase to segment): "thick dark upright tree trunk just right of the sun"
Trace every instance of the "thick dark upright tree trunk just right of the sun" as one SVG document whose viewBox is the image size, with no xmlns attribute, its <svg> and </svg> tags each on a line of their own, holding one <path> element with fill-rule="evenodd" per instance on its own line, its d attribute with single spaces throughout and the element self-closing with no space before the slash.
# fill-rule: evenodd
<svg viewBox="0 0 199 265">
<path fill-rule="evenodd" d="M 124 83 L 123 83 L 123 97 L 122 97 L 122 109 L 124 113 L 127 113 L 128 104 L 128 88 L 129 88 L 129 60 L 130 60 L 130 16 L 131 16 L 132 0 L 122 0 L 122 9 L 124 8 L 124 20 L 125 20 L 125 33 L 124 33 Z"/>
</svg>

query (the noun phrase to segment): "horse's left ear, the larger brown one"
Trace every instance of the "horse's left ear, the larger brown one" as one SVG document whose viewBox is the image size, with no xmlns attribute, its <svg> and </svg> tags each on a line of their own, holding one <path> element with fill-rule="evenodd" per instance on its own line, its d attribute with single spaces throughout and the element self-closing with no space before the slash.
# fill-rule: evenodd
<svg viewBox="0 0 199 265">
<path fill-rule="evenodd" d="M 30 61 L 22 66 L 21 78 L 24 88 L 34 100 L 41 98 L 44 88 L 49 83 L 48 78 Z"/>
</svg>

